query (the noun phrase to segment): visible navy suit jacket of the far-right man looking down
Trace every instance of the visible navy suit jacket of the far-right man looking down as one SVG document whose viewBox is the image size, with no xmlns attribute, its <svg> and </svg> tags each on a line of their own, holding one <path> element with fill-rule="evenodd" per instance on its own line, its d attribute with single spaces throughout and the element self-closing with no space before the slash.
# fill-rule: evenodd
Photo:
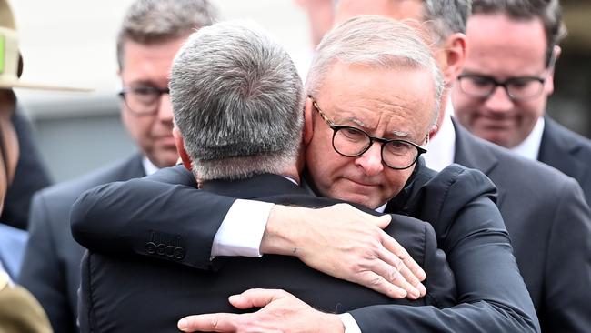
<svg viewBox="0 0 591 333">
<path fill-rule="evenodd" d="M 576 179 L 591 205 L 591 140 L 566 129 L 549 116 L 544 117 L 544 133 L 537 159 Z"/>
</svg>

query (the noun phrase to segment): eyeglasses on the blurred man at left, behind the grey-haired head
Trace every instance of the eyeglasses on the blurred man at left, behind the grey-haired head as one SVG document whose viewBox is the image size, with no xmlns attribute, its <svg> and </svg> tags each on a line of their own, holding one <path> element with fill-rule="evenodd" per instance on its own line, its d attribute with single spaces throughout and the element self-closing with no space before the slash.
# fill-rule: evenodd
<svg viewBox="0 0 591 333">
<path fill-rule="evenodd" d="M 125 86 L 119 92 L 125 106 L 136 116 L 153 116 L 158 113 L 158 104 L 168 88 L 155 86 Z"/>
</svg>

